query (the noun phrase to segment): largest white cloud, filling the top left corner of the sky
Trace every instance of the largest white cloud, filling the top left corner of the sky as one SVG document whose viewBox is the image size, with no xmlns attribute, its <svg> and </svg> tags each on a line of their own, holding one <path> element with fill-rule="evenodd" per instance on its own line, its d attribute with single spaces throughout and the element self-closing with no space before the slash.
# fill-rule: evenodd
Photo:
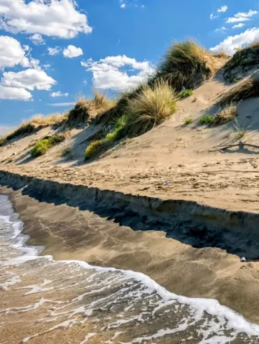
<svg viewBox="0 0 259 344">
<path fill-rule="evenodd" d="M 72 39 L 92 32 L 74 0 L 1 0 L 0 27 L 8 32 Z"/>
</svg>

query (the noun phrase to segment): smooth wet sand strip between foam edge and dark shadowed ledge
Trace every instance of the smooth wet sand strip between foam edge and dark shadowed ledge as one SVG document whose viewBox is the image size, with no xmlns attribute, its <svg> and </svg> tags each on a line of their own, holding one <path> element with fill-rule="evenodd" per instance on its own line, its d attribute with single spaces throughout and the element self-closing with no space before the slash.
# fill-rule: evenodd
<svg viewBox="0 0 259 344">
<path fill-rule="evenodd" d="M 45 203 L 2 187 L 25 223 L 31 245 L 43 245 L 43 255 L 55 260 L 84 260 L 90 265 L 143 272 L 179 295 L 215 298 L 259 323 L 258 263 L 241 263 L 238 256 L 214 247 L 195 249 L 165 236 L 137 231 L 91 211 Z M 40 201 L 39 201 L 40 199 Z M 123 214 L 122 214 L 123 216 Z M 132 215 L 133 216 L 133 215 Z"/>
</svg>

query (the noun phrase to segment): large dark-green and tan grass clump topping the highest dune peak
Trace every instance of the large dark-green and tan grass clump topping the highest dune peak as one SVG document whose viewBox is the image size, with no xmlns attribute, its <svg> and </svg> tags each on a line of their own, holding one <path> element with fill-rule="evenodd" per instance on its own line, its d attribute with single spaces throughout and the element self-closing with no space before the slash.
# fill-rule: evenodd
<svg viewBox="0 0 259 344">
<path fill-rule="evenodd" d="M 169 81 L 176 91 L 181 91 L 183 86 L 193 88 L 197 74 L 202 74 L 205 78 L 211 75 L 207 66 L 209 55 L 211 54 L 191 39 L 176 42 L 167 51 L 158 74 Z"/>
</svg>

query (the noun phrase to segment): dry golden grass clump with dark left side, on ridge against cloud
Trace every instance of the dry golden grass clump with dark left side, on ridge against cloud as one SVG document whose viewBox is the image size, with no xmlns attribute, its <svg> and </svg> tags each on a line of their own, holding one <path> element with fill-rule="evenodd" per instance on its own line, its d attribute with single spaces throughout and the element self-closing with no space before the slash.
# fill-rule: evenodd
<svg viewBox="0 0 259 344">
<path fill-rule="evenodd" d="M 111 100 L 106 97 L 106 94 L 101 94 L 94 89 L 94 98 L 89 100 L 83 95 L 78 97 L 76 106 L 70 110 L 67 124 L 83 123 L 87 124 L 90 118 L 97 117 L 99 114 L 104 114 L 111 110 L 116 105 L 116 100 Z"/>
</svg>

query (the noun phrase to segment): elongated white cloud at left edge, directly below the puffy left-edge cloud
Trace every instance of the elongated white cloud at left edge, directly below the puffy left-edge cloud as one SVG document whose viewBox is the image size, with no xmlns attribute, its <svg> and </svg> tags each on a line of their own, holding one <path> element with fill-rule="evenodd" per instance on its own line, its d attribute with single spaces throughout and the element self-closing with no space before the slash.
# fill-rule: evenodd
<svg viewBox="0 0 259 344">
<path fill-rule="evenodd" d="M 1 85 L 10 88 L 26 88 L 30 91 L 49 91 L 57 81 L 49 77 L 43 70 L 22 70 L 22 72 L 4 72 Z"/>
</svg>

